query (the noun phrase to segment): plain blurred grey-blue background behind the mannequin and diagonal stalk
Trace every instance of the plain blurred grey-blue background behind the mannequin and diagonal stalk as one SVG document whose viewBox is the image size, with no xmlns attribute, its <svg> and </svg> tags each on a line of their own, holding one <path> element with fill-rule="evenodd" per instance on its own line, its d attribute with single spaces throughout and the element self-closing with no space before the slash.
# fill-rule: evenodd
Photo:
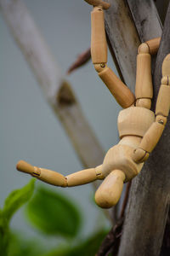
<svg viewBox="0 0 170 256">
<path fill-rule="evenodd" d="M 84 1 L 25 0 L 33 19 L 51 49 L 63 74 L 90 46 L 90 11 Z M 42 95 L 30 67 L 8 31 L 0 15 L 0 207 L 14 189 L 24 186 L 30 176 L 15 170 L 18 160 L 27 160 L 66 175 L 83 169 L 71 142 Z M 109 66 L 116 68 L 109 55 Z M 105 84 L 99 79 L 91 61 L 66 77 L 82 106 L 82 111 L 96 137 L 106 150 L 118 142 L 116 119 L 121 109 Z M 102 160 L 101 160 L 102 162 Z M 81 236 L 88 236 L 99 225 L 110 227 L 105 215 L 94 205 L 91 184 L 61 189 L 45 185 L 63 193 L 77 204 L 82 212 Z M 38 236 L 23 217 L 23 209 L 14 215 L 12 228 L 25 236 Z M 45 243 L 56 240 L 41 236 Z"/>
</svg>

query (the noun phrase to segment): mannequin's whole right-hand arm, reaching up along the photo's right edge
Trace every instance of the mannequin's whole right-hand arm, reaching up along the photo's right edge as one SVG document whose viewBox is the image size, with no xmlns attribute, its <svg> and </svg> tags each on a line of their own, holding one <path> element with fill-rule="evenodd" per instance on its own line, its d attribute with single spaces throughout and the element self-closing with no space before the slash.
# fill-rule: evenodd
<svg viewBox="0 0 170 256">
<path fill-rule="evenodd" d="M 147 160 L 149 153 L 156 147 L 167 123 L 167 115 L 170 109 L 170 55 L 167 55 L 162 63 L 161 87 L 156 101 L 156 120 L 144 134 L 139 148 L 134 151 L 133 160 L 143 162 Z"/>
</svg>

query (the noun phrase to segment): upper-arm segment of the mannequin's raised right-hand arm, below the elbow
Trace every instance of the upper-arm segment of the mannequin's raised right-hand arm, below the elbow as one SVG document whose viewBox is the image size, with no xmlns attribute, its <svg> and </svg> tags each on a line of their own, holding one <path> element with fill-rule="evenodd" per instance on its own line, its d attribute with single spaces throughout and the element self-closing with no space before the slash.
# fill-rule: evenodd
<svg viewBox="0 0 170 256">
<path fill-rule="evenodd" d="M 164 128 L 164 125 L 154 122 L 150 126 L 150 129 L 144 134 L 144 137 L 139 144 L 139 148 L 142 148 L 144 151 L 150 153 L 156 147 Z"/>
</svg>

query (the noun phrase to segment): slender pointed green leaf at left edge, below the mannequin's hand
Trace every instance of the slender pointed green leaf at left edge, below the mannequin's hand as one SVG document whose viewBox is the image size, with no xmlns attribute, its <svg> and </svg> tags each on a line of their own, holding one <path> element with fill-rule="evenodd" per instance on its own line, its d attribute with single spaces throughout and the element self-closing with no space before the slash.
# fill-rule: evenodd
<svg viewBox="0 0 170 256">
<path fill-rule="evenodd" d="M 26 203 L 31 198 L 31 195 L 34 190 L 35 179 L 32 178 L 30 183 L 28 183 L 22 189 L 16 189 L 11 192 L 7 199 L 5 200 L 3 207 L 3 217 L 6 218 L 7 221 L 14 215 L 23 204 Z"/>
</svg>

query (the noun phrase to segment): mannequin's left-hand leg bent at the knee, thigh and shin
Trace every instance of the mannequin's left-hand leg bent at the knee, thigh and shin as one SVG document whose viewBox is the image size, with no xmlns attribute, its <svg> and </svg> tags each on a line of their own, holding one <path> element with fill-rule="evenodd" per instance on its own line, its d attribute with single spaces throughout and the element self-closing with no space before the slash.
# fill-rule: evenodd
<svg viewBox="0 0 170 256">
<path fill-rule="evenodd" d="M 96 71 L 99 73 L 100 79 L 111 91 L 122 108 L 128 108 L 133 105 L 135 98 L 131 90 L 122 83 L 111 68 L 105 64 L 107 62 L 107 44 L 105 37 L 105 20 L 104 11 L 101 6 L 94 7 L 91 13 L 91 55 Z"/>
</svg>

